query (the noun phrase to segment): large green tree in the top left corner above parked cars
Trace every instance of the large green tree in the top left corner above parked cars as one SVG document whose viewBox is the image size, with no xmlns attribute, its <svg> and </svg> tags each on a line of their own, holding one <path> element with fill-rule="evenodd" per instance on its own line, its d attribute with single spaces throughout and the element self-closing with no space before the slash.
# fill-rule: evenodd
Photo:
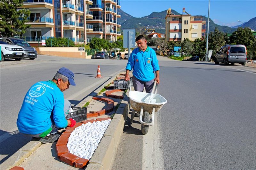
<svg viewBox="0 0 256 170">
<path fill-rule="evenodd" d="M 2 36 L 22 36 L 30 25 L 30 11 L 22 9 L 24 0 L 0 0 L 0 33 Z"/>
</svg>

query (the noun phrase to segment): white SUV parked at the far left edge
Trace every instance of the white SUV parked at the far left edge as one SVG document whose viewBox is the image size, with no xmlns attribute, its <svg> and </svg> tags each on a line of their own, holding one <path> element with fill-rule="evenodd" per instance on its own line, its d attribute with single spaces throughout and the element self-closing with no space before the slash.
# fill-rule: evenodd
<svg viewBox="0 0 256 170">
<path fill-rule="evenodd" d="M 4 59 L 15 59 L 15 60 L 22 60 L 25 56 L 24 48 L 21 46 L 12 45 L 10 42 L 0 39 L 0 46 L 1 46 L 1 61 Z"/>
</svg>

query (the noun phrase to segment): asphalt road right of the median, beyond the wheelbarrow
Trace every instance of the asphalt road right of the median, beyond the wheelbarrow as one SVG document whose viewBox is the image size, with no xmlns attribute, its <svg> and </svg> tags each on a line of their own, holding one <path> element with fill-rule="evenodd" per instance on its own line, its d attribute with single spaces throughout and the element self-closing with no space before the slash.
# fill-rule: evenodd
<svg viewBox="0 0 256 170">
<path fill-rule="evenodd" d="M 112 169 L 256 169 L 256 69 L 158 59 L 168 102 L 147 135 L 128 118 Z"/>
</svg>

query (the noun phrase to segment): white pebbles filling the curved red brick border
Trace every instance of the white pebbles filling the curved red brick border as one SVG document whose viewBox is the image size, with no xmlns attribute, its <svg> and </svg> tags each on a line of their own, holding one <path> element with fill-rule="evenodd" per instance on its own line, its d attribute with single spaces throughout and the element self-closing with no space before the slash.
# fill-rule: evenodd
<svg viewBox="0 0 256 170">
<path fill-rule="evenodd" d="M 108 119 L 78 126 L 68 138 L 68 151 L 90 160 L 110 122 Z"/>
</svg>

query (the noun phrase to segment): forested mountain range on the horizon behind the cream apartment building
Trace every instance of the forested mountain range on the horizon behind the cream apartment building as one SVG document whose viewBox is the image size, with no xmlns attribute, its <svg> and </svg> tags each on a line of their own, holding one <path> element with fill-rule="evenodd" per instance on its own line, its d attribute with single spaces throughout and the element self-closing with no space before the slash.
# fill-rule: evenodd
<svg viewBox="0 0 256 170">
<path fill-rule="evenodd" d="M 150 29 L 155 29 L 156 32 L 158 33 L 165 33 L 165 16 L 166 16 L 166 11 L 162 11 L 162 12 L 152 12 L 150 15 L 145 16 L 145 17 L 141 17 L 141 18 L 136 18 L 136 17 L 132 17 L 131 15 L 125 13 L 124 11 L 122 11 L 121 9 L 117 9 L 118 12 L 121 13 L 121 18 L 117 18 L 118 22 L 121 22 L 121 29 L 135 29 L 135 25 L 137 25 L 137 31 L 140 32 L 144 32 L 145 28 L 150 28 Z M 180 13 L 178 13 L 175 10 L 172 10 L 172 12 L 175 15 L 181 15 Z M 207 17 L 204 17 L 204 20 L 206 21 L 206 26 L 207 26 Z M 256 17 L 255 17 L 256 18 Z M 256 23 L 256 19 L 252 18 L 250 21 L 248 21 L 247 23 L 243 24 L 243 27 L 246 26 L 248 23 L 250 24 L 250 28 L 256 27 L 255 23 Z M 222 26 L 222 25 L 217 25 L 215 24 L 211 18 L 209 18 L 209 32 L 214 31 L 215 27 L 218 28 L 218 30 L 225 32 L 225 33 L 232 33 L 234 31 L 236 31 L 236 28 L 231 28 L 228 26 Z M 141 23 L 141 24 L 139 24 Z M 254 26 L 253 26 L 254 25 Z M 246 26 L 247 27 L 247 26 Z M 206 28 L 207 30 L 207 28 Z M 254 29 L 256 30 L 256 28 Z"/>
</svg>

